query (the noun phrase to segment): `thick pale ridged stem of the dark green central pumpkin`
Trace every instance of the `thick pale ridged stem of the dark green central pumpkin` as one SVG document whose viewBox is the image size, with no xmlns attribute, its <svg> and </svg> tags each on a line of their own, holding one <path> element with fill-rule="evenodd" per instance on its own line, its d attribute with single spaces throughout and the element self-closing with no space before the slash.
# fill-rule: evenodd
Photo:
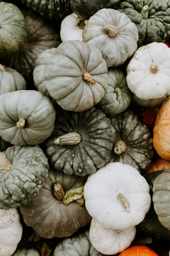
<svg viewBox="0 0 170 256">
<path fill-rule="evenodd" d="M 59 136 L 54 143 L 56 145 L 75 145 L 81 141 L 81 136 L 77 132 L 68 132 Z"/>
</svg>

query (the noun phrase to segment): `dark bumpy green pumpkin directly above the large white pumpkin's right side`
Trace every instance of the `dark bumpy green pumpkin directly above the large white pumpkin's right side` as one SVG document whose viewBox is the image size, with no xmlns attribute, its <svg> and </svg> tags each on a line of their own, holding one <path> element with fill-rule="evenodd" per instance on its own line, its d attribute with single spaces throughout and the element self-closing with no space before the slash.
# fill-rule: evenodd
<svg viewBox="0 0 170 256">
<path fill-rule="evenodd" d="M 150 131 L 132 110 L 125 110 L 111 118 L 114 128 L 113 148 L 108 162 L 122 162 L 145 172 L 153 156 Z"/>
</svg>

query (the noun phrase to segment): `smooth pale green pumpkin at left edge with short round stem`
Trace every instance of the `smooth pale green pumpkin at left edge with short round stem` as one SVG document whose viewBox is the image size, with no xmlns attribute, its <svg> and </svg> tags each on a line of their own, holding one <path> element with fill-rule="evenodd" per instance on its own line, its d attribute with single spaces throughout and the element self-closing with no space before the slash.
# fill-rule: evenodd
<svg viewBox="0 0 170 256">
<path fill-rule="evenodd" d="M 39 91 L 19 90 L 0 95 L 0 113 L 0 136 L 14 145 L 41 143 L 54 128 L 54 105 Z"/>
</svg>

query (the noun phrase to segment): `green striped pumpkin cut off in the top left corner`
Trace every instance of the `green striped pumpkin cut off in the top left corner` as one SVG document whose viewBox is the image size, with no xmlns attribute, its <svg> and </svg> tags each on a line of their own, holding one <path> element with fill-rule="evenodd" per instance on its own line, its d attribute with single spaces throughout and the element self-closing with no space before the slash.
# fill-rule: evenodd
<svg viewBox="0 0 170 256">
<path fill-rule="evenodd" d="M 27 38 L 27 23 L 12 3 L 0 2 L 0 59 L 11 57 L 19 52 Z"/>
</svg>

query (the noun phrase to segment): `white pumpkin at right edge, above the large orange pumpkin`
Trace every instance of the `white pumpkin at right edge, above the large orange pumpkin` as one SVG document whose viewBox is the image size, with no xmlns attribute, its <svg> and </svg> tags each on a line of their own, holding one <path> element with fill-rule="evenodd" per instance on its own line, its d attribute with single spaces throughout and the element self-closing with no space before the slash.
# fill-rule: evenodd
<svg viewBox="0 0 170 256">
<path fill-rule="evenodd" d="M 169 68 L 170 48 L 153 42 L 137 49 L 126 68 L 126 82 L 140 99 L 161 98 L 170 89 Z"/>
</svg>

